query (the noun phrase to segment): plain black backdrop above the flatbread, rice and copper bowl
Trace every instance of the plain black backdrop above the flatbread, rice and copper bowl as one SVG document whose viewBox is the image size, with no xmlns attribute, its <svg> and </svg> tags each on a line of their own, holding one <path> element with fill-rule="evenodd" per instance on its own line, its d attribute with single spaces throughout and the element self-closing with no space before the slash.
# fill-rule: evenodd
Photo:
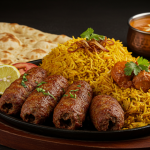
<svg viewBox="0 0 150 150">
<path fill-rule="evenodd" d="M 150 0 L 0 1 L 0 22 L 70 37 L 78 37 L 91 27 L 97 34 L 122 41 L 124 46 L 129 18 L 144 12 L 150 12 Z M 9 148 L 0 146 L 3 149 Z"/>
</svg>

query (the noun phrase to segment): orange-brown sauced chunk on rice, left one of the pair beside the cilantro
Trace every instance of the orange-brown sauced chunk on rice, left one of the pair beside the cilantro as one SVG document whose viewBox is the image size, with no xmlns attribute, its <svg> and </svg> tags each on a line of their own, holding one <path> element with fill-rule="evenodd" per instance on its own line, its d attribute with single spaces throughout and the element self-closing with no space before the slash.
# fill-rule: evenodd
<svg viewBox="0 0 150 150">
<path fill-rule="evenodd" d="M 125 75 L 125 64 L 127 61 L 117 62 L 111 70 L 111 76 L 119 87 L 130 88 L 132 86 L 133 75 Z"/>
</svg>

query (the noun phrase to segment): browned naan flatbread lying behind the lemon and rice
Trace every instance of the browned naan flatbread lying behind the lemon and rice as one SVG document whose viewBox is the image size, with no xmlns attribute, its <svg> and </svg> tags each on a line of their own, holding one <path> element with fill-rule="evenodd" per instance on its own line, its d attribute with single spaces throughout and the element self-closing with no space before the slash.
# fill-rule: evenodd
<svg viewBox="0 0 150 150">
<path fill-rule="evenodd" d="M 71 39 L 17 23 L 0 23 L 0 65 L 42 59 L 52 48 Z"/>
</svg>

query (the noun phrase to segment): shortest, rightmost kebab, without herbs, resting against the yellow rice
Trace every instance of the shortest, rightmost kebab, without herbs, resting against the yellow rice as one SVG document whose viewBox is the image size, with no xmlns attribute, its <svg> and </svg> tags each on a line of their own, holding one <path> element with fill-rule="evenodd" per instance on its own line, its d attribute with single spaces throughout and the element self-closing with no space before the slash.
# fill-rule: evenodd
<svg viewBox="0 0 150 150">
<path fill-rule="evenodd" d="M 98 95 L 92 99 L 90 117 L 98 131 L 120 130 L 124 125 L 124 111 L 116 99 Z"/>
</svg>

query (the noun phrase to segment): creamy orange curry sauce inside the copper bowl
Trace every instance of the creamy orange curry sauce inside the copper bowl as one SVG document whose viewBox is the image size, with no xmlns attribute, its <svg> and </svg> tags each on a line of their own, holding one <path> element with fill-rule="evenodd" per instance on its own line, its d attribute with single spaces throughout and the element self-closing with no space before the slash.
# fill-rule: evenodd
<svg viewBox="0 0 150 150">
<path fill-rule="evenodd" d="M 130 22 L 130 25 L 138 30 L 150 32 L 150 16 L 133 20 Z"/>
</svg>

